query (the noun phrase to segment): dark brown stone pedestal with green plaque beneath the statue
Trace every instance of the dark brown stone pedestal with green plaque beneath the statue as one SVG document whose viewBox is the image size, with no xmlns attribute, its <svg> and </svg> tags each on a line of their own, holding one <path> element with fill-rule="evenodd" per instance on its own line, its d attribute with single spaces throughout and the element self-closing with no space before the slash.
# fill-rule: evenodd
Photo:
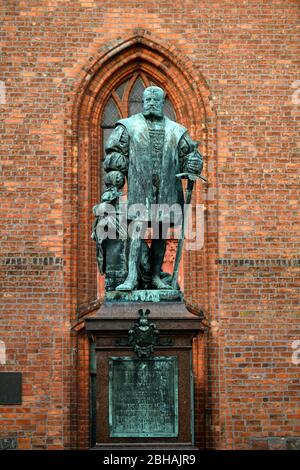
<svg viewBox="0 0 300 470">
<path fill-rule="evenodd" d="M 149 309 L 159 339 L 139 359 L 128 331 Z M 107 302 L 86 320 L 91 338 L 93 449 L 194 449 L 192 340 L 201 320 L 183 302 Z"/>
</svg>

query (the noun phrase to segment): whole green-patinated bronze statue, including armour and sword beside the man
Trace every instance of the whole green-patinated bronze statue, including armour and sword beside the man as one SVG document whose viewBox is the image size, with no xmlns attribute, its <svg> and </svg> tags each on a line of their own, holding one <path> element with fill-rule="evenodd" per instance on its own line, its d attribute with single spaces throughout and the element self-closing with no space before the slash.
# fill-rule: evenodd
<svg viewBox="0 0 300 470">
<path fill-rule="evenodd" d="M 167 299 L 165 291 L 170 291 L 171 300 L 182 300 L 177 284 L 178 266 L 183 241 L 178 244 L 178 252 L 173 275 L 161 270 L 167 235 L 164 232 L 166 214 L 164 211 L 153 214 L 153 204 L 177 204 L 182 207 L 190 202 L 193 183 L 189 186 L 184 201 L 182 178 L 194 180 L 200 175 L 203 162 L 187 130 L 171 121 L 163 114 L 165 92 L 159 87 L 149 87 L 144 91 L 143 113 L 122 119 L 116 123 L 106 144 L 104 169 L 107 190 L 101 203 L 94 207 L 96 217 L 92 238 L 97 243 L 99 270 L 106 276 L 106 292 L 109 300 L 149 301 L 149 297 L 160 301 Z M 203 178 L 202 178 L 203 179 Z M 127 180 L 127 221 L 142 223 L 140 232 L 130 237 L 127 227 L 122 224 L 124 213 L 120 196 Z M 143 205 L 143 213 L 131 209 L 136 204 Z M 167 224 L 176 225 L 176 217 L 171 212 Z M 147 228 L 158 224 L 159 235 L 148 246 L 143 239 Z M 108 239 L 103 235 L 103 227 L 115 230 L 118 239 Z M 184 222 L 183 227 L 184 228 Z M 184 230 L 182 230 L 184 232 Z M 157 291 L 153 295 L 152 291 Z M 162 294 L 160 294 L 162 292 Z M 165 300 L 165 299 L 164 299 Z M 151 301 L 151 300 L 150 300 Z"/>
</svg>

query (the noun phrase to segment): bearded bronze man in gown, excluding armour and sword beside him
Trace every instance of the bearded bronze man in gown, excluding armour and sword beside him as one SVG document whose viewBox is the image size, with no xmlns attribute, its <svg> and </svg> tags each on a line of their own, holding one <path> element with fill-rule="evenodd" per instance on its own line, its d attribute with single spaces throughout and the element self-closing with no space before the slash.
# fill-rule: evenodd
<svg viewBox="0 0 300 470">
<path fill-rule="evenodd" d="M 183 206 L 183 190 L 178 173 L 199 175 L 202 157 L 197 144 L 187 130 L 164 116 L 165 92 L 151 86 L 143 95 L 143 112 L 121 119 L 111 133 L 106 145 L 104 169 L 118 171 L 127 177 L 128 219 L 139 219 L 131 213 L 132 207 L 144 208 L 140 219 L 151 226 L 153 205 L 174 204 Z M 172 222 L 172 221 L 171 221 Z M 171 289 L 161 278 L 161 267 L 167 240 L 162 234 L 163 221 L 159 221 L 159 238 L 153 239 L 150 248 L 151 288 Z M 132 291 L 138 285 L 138 268 L 141 257 L 141 238 L 130 240 L 128 275 L 117 290 Z"/>
</svg>

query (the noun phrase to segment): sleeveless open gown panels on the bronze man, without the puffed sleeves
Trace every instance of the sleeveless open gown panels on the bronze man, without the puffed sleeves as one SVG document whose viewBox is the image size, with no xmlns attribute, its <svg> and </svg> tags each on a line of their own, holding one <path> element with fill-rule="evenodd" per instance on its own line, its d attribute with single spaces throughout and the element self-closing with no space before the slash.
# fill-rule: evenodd
<svg viewBox="0 0 300 470">
<path fill-rule="evenodd" d="M 127 119 L 119 120 L 116 125 L 124 126 L 129 135 L 129 162 L 128 162 L 128 210 L 133 204 L 143 204 L 147 208 L 146 219 L 150 220 L 151 205 L 183 204 L 183 191 L 181 181 L 176 174 L 181 172 L 178 144 L 187 130 L 171 121 L 166 116 L 165 138 L 162 152 L 161 176 L 158 197 L 154 200 L 152 173 L 153 161 L 150 149 L 150 136 L 146 119 L 143 114 L 135 114 Z M 129 218 L 130 217 L 129 212 Z M 142 217 L 144 219 L 144 217 Z"/>
</svg>

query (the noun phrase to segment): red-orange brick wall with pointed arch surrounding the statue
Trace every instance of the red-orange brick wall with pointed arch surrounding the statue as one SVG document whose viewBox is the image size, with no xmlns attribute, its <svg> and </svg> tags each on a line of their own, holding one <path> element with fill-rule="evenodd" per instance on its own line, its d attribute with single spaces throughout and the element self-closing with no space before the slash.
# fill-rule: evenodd
<svg viewBox="0 0 300 470">
<path fill-rule="evenodd" d="M 200 440 L 272 448 L 299 436 L 298 1 L 6 0 L 0 11 L 0 369 L 24 382 L 23 404 L 0 406 L 0 437 L 87 445 L 77 310 L 96 301 L 96 129 L 112 72 L 137 59 L 170 83 L 210 182 L 196 194 L 205 245 L 185 256 L 187 300 L 210 326 L 205 355 L 195 344 Z"/>
</svg>

